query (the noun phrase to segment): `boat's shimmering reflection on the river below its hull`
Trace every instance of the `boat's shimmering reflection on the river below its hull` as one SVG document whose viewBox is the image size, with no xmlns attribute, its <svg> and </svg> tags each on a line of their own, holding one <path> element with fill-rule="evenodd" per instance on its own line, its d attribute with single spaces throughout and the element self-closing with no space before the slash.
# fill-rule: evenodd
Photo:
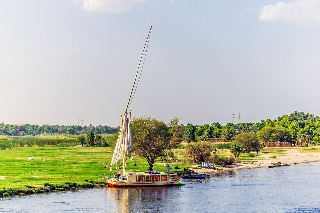
<svg viewBox="0 0 320 213">
<path fill-rule="evenodd" d="M 178 188 L 171 186 L 170 188 Z M 156 203 L 168 201 L 168 187 L 106 188 L 106 199 L 113 203 L 118 212 L 132 212 L 134 209 L 152 210 Z"/>
</svg>

